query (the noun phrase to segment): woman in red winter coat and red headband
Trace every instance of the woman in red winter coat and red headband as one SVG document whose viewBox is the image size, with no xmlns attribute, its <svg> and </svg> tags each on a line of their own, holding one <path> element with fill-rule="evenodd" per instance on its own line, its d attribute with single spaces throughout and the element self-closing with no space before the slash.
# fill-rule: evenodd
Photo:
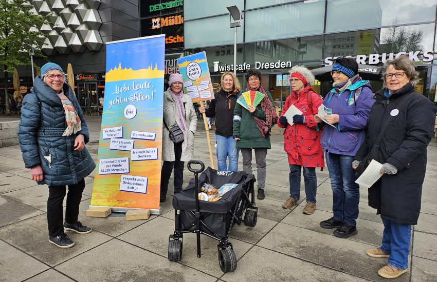
<svg viewBox="0 0 437 282">
<path fill-rule="evenodd" d="M 304 66 L 294 66 L 290 71 L 292 93 L 285 100 L 285 106 L 278 119 L 278 126 L 284 130 L 284 150 L 290 164 L 290 197 L 282 208 L 291 209 L 298 205 L 300 197 L 300 173 L 303 167 L 306 205 L 304 214 L 316 210 L 317 177 L 316 168 L 324 167 L 323 150 L 320 145 L 321 131 L 317 131 L 314 115 L 322 104 L 322 97 L 313 91 L 314 75 Z M 287 120 L 285 112 L 294 105 L 302 114 Z M 290 125 L 292 124 L 292 125 Z"/>
</svg>

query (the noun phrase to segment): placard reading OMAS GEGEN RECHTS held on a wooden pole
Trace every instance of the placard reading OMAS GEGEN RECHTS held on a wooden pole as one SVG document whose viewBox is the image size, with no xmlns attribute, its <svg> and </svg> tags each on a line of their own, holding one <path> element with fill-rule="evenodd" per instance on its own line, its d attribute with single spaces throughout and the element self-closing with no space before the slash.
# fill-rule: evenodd
<svg viewBox="0 0 437 282">
<path fill-rule="evenodd" d="M 205 52 L 178 58 L 177 64 L 184 79 L 184 92 L 193 103 L 214 99 Z"/>
</svg>

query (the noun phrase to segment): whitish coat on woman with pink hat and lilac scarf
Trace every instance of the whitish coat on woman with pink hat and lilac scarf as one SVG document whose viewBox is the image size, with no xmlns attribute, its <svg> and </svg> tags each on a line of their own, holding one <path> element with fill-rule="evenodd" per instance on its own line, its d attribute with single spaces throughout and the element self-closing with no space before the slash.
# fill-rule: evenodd
<svg viewBox="0 0 437 282">
<path fill-rule="evenodd" d="M 182 95 L 181 99 L 185 107 L 185 125 L 188 128 L 188 143 L 187 148 L 182 151 L 182 156 L 180 160 L 183 162 L 188 162 L 194 157 L 194 134 L 197 128 L 197 115 L 194 111 L 193 102 L 191 102 L 191 97 L 186 94 Z M 163 119 L 165 120 L 167 126 L 172 128 L 177 125 L 176 119 L 174 117 L 174 107 L 177 104 L 170 94 L 170 88 L 164 92 L 164 106 L 163 106 Z M 167 160 L 169 162 L 174 162 L 174 147 L 173 142 L 170 140 L 169 131 L 163 125 L 162 126 L 162 160 Z"/>
</svg>

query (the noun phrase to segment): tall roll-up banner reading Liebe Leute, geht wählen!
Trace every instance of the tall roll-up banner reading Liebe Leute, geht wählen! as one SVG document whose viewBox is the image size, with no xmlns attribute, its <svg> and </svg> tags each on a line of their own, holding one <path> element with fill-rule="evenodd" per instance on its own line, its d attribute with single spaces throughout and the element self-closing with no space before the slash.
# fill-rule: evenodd
<svg viewBox="0 0 437 282">
<path fill-rule="evenodd" d="M 105 97 L 90 206 L 159 213 L 165 35 L 106 43 Z"/>
</svg>

